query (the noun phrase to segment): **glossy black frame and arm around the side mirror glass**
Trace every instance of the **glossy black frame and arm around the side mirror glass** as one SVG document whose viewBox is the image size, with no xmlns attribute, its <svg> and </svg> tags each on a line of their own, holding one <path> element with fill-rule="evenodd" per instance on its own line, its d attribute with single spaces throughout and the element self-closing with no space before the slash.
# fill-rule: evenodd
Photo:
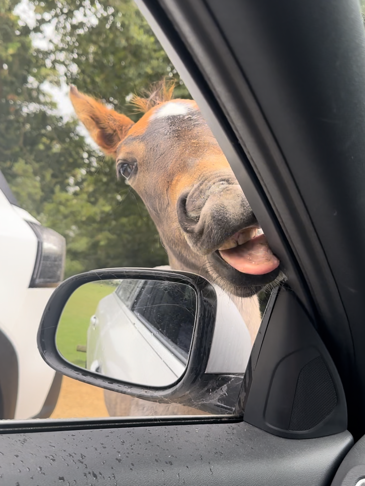
<svg viewBox="0 0 365 486">
<path fill-rule="evenodd" d="M 80 368 L 63 358 L 56 347 L 55 334 L 62 311 L 73 292 L 81 285 L 107 279 L 146 279 L 183 283 L 195 290 L 197 315 L 186 369 L 174 383 L 165 387 L 139 386 Z M 111 268 L 75 275 L 62 282 L 51 296 L 42 316 L 37 334 L 39 352 L 44 361 L 70 378 L 100 386 L 133 397 L 193 406 L 215 414 L 233 413 L 242 376 L 206 373 L 217 312 L 217 295 L 205 278 L 188 272 L 143 268 Z M 228 397 L 222 391 L 234 389 Z M 230 403 L 232 401 L 232 403 Z"/>
</svg>

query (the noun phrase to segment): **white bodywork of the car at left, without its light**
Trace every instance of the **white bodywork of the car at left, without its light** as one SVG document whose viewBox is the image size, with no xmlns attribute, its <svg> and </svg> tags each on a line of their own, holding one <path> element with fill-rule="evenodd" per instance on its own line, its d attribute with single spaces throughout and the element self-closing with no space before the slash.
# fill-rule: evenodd
<svg viewBox="0 0 365 486">
<path fill-rule="evenodd" d="M 0 190 L 0 329 L 18 359 L 16 419 L 40 412 L 55 377 L 55 371 L 41 359 L 36 339 L 40 318 L 54 289 L 29 288 L 38 243 L 27 220 L 37 221 L 10 204 Z"/>
</svg>

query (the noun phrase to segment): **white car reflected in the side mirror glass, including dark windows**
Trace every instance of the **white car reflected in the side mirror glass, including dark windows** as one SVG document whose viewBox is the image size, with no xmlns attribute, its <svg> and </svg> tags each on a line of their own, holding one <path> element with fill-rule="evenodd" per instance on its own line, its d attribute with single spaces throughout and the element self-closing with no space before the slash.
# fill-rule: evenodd
<svg viewBox="0 0 365 486">
<path fill-rule="evenodd" d="M 196 298 L 173 282 L 122 280 L 91 317 L 87 364 L 126 382 L 166 386 L 183 374 L 195 323 Z M 137 352 L 136 352 L 137 351 Z"/>
</svg>

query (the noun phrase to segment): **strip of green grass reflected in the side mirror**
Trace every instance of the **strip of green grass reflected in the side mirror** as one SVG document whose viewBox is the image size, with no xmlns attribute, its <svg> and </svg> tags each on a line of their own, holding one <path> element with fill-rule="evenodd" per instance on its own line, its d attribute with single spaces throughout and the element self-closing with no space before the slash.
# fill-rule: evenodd
<svg viewBox="0 0 365 486">
<path fill-rule="evenodd" d="M 69 298 L 58 324 L 56 345 L 64 358 L 85 368 L 86 353 L 77 351 L 78 345 L 86 346 L 90 317 L 95 313 L 99 301 L 115 290 L 105 282 L 82 285 Z"/>
</svg>

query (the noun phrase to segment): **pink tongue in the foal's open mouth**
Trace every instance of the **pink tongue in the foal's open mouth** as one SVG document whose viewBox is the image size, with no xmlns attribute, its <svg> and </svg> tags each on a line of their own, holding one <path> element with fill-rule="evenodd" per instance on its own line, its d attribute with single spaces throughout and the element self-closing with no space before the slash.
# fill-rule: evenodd
<svg viewBox="0 0 365 486">
<path fill-rule="evenodd" d="M 263 234 L 235 248 L 219 250 L 219 254 L 238 272 L 251 275 L 263 275 L 272 272 L 280 263 L 269 248 Z"/>
</svg>

